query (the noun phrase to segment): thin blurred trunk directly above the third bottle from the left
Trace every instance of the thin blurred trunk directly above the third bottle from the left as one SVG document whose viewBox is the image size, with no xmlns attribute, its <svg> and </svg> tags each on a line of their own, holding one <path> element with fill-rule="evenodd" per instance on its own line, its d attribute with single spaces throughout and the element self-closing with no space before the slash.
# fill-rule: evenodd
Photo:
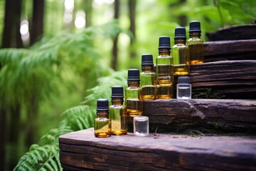
<svg viewBox="0 0 256 171">
<path fill-rule="evenodd" d="M 136 38 L 135 31 L 135 9 L 136 9 L 136 0 L 129 0 L 129 19 L 130 19 L 130 31 L 132 32 L 134 38 L 131 40 L 131 46 L 134 43 L 134 39 Z M 130 53 L 131 58 L 136 57 L 136 52 L 132 49 Z"/>
</svg>

